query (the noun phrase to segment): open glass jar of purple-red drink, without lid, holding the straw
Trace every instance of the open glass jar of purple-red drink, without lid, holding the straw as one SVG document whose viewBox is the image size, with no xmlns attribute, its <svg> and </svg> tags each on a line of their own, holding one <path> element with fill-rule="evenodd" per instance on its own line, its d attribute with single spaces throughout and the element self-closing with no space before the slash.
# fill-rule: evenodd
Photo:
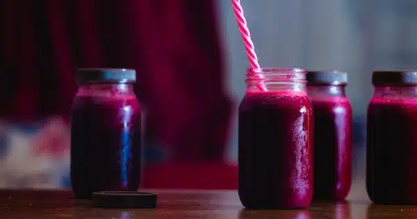
<svg viewBox="0 0 417 219">
<path fill-rule="evenodd" d="M 247 73 L 239 106 L 238 193 L 254 209 L 306 208 L 313 195 L 313 121 L 299 69 Z"/>
</svg>

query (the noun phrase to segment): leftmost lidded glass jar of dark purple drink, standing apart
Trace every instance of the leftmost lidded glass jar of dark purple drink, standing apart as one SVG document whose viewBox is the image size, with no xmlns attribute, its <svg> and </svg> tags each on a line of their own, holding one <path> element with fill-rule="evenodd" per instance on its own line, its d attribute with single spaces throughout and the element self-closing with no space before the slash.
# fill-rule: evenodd
<svg viewBox="0 0 417 219">
<path fill-rule="evenodd" d="M 77 198 L 137 190 L 140 184 L 140 106 L 135 70 L 81 69 L 72 104 L 71 184 Z"/>
</svg>

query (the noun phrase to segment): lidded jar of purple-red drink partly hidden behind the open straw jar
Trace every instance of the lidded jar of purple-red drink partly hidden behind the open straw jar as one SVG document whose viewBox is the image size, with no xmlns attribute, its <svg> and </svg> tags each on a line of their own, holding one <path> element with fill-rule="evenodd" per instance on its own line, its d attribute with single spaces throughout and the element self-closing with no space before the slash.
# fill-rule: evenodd
<svg viewBox="0 0 417 219">
<path fill-rule="evenodd" d="M 314 115 L 315 200 L 345 200 L 352 184 L 352 108 L 347 74 L 307 72 Z"/>
</svg>

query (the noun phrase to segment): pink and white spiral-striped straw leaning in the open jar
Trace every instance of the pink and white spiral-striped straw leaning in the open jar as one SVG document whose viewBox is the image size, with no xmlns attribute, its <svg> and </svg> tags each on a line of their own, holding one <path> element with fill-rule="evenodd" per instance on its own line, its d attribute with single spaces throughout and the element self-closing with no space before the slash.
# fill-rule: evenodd
<svg viewBox="0 0 417 219">
<path fill-rule="evenodd" d="M 233 6 L 236 21 L 238 22 L 240 36 L 242 37 L 243 44 L 245 45 L 246 54 L 250 63 L 250 67 L 252 67 L 252 69 L 254 70 L 257 70 L 261 67 L 258 63 L 258 57 L 256 57 L 254 43 L 250 38 L 250 32 L 247 28 L 245 15 L 243 15 L 243 8 L 240 5 L 240 0 L 231 0 L 231 5 Z M 259 77 L 261 78 L 261 76 Z M 263 83 L 257 83 L 256 86 L 263 91 L 266 90 L 265 84 Z"/>
</svg>

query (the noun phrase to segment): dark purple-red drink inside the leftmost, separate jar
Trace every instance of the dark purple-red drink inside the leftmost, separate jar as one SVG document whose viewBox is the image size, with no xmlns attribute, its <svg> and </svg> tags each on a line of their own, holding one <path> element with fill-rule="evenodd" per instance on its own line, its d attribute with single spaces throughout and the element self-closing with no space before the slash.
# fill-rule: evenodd
<svg viewBox="0 0 417 219">
<path fill-rule="evenodd" d="M 76 97 L 71 179 L 76 197 L 140 184 L 140 109 L 134 96 Z"/>
</svg>

